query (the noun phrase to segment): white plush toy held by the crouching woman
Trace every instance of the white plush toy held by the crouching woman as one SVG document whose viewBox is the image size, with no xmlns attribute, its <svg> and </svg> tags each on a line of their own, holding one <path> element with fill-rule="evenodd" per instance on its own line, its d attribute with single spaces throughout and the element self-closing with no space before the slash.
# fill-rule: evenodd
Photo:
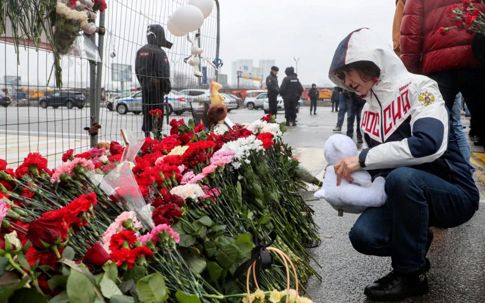
<svg viewBox="0 0 485 303">
<path fill-rule="evenodd" d="M 315 192 L 316 198 L 324 198 L 335 210 L 359 214 L 368 207 L 379 207 L 385 203 L 384 178 L 377 177 L 372 182 L 368 172 L 356 171 L 351 174 L 354 181 L 347 182 L 342 177 L 337 186 L 333 165 L 337 162 L 359 155 L 357 146 L 351 138 L 336 134 L 328 138 L 323 146 L 323 154 L 329 166 L 325 172 L 322 188 Z"/>
</svg>

